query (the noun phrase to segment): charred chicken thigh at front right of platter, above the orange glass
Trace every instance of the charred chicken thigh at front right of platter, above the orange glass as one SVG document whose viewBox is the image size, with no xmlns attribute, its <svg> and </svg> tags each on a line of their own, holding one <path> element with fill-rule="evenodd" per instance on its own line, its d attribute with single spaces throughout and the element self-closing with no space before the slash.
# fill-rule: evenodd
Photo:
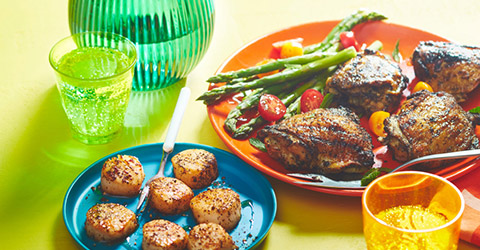
<svg viewBox="0 0 480 250">
<path fill-rule="evenodd" d="M 399 113 L 385 120 L 387 136 L 379 141 L 393 150 L 395 160 L 402 162 L 430 154 L 476 149 L 478 122 L 478 117 L 464 111 L 452 95 L 422 90 L 409 96 Z"/>
</svg>

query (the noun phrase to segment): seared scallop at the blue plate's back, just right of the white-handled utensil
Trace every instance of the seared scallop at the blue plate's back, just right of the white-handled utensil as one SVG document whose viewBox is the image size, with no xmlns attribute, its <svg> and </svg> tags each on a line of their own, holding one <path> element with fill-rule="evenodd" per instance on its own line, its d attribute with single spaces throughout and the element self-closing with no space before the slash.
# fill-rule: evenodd
<svg viewBox="0 0 480 250">
<path fill-rule="evenodd" d="M 173 173 L 192 189 L 209 186 L 218 177 L 217 159 L 203 149 L 187 149 L 172 157 Z"/>
</svg>

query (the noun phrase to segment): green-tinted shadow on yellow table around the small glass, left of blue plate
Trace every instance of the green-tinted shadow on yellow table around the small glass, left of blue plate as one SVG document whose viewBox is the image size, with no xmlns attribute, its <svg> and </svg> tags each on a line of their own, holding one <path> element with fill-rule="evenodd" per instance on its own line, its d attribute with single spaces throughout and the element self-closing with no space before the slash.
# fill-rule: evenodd
<svg viewBox="0 0 480 250">
<path fill-rule="evenodd" d="M 32 237 L 41 237 L 49 228 L 45 226 L 48 223 L 54 226 L 49 240 L 62 240 L 58 237 L 65 235 L 66 230 L 65 226 L 59 225 L 63 219 L 61 212 L 58 213 L 73 180 L 105 155 L 131 146 L 162 141 L 161 136 L 185 82 L 182 80 L 158 91 L 132 93 L 125 128 L 118 138 L 104 145 L 85 145 L 71 137 L 55 86 L 39 93 L 42 101 L 38 103 L 38 110 L 32 112 L 26 126 L 18 128 L 23 132 L 18 133 L 16 141 L 11 144 L 14 146 L 4 154 L 8 156 L 5 161 L 11 165 L 8 168 L 9 178 L 4 184 L 12 191 L 2 195 L 2 202 L 9 205 L 0 206 L 0 214 L 10 214 L 2 221 L 2 226 L 11 231 L 8 234 L 22 235 L 22 227 L 18 225 L 28 224 L 34 234 Z M 23 244 L 31 243 L 25 241 L 18 246 Z M 65 248 L 59 246 L 58 249 Z"/>
</svg>

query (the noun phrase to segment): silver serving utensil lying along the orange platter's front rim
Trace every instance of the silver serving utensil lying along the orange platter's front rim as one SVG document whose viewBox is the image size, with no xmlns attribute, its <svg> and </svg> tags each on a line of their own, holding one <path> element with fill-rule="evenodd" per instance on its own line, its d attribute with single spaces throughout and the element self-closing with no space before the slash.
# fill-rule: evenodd
<svg viewBox="0 0 480 250">
<path fill-rule="evenodd" d="M 408 161 L 394 169 L 389 173 L 397 172 L 404 170 L 410 166 L 416 165 L 418 163 L 437 161 L 437 160 L 452 160 L 452 159 L 462 159 L 471 156 L 480 156 L 480 149 L 473 150 L 464 150 L 456 151 L 442 154 L 433 154 L 422 156 L 417 159 Z M 480 157 L 475 158 L 475 160 L 480 159 Z M 336 188 L 336 189 L 364 189 L 366 186 L 361 185 L 360 180 L 334 180 L 328 178 L 321 174 L 303 174 L 303 173 L 287 173 L 288 176 L 307 179 L 311 181 L 294 181 L 295 184 L 301 184 L 306 186 L 322 187 L 322 188 Z"/>
</svg>

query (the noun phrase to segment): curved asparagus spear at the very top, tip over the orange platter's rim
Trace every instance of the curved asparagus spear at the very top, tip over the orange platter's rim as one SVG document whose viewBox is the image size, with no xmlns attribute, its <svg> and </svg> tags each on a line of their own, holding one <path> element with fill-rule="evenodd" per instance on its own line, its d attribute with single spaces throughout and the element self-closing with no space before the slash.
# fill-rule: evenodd
<svg viewBox="0 0 480 250">
<path fill-rule="evenodd" d="M 325 51 L 328 48 L 337 45 L 339 41 L 340 33 L 343 31 L 349 31 L 358 24 L 368 21 L 384 20 L 386 17 L 374 11 L 358 10 L 357 12 L 345 17 L 340 23 L 338 23 L 330 33 L 325 37 L 321 43 L 313 44 L 304 48 L 305 54 L 310 54 L 315 51 Z"/>
</svg>

